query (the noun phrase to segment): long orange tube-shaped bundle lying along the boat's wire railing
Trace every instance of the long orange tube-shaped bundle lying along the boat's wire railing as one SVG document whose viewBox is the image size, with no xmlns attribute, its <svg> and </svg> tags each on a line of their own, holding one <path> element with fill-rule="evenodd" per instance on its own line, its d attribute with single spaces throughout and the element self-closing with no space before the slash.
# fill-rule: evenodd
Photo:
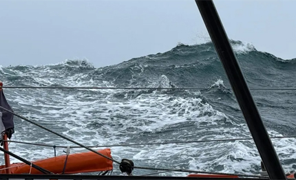
<svg viewBox="0 0 296 180">
<path fill-rule="evenodd" d="M 98 153 L 112 158 L 111 150 L 109 148 L 98 150 Z M 53 172 L 54 174 L 61 174 L 65 166 L 65 159 L 66 155 L 61 155 L 39 161 L 32 161 L 32 163 L 36 166 L 44 168 L 45 170 Z M 0 166 L 0 174 L 6 174 L 6 170 L 4 168 L 6 168 L 5 165 Z M 111 160 L 106 159 L 101 155 L 97 155 L 94 152 L 87 152 L 68 155 L 64 173 L 75 174 L 80 172 L 98 172 L 112 169 L 113 164 Z M 43 174 L 39 170 L 31 168 L 31 166 L 24 163 L 10 164 L 10 171 L 11 174 Z"/>
</svg>

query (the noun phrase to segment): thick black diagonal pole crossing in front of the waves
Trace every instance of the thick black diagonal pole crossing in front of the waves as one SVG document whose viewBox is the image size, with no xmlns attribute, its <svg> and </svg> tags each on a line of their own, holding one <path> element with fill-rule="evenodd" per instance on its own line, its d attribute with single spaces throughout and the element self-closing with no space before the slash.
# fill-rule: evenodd
<svg viewBox="0 0 296 180">
<path fill-rule="evenodd" d="M 195 0 L 270 179 L 286 179 L 212 0 Z"/>
</svg>

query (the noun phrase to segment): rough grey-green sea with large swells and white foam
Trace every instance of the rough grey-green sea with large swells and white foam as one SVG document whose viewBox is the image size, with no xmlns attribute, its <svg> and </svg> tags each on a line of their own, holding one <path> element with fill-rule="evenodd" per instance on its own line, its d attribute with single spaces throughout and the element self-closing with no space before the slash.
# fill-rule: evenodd
<svg viewBox="0 0 296 180">
<path fill-rule="evenodd" d="M 249 43 L 231 41 L 251 93 L 273 136 L 295 135 L 296 59 L 259 52 Z M 87 146 L 145 144 L 251 137 L 242 111 L 212 43 L 178 45 L 169 52 L 96 68 L 87 60 L 55 65 L 0 66 L 4 86 L 47 87 L 193 87 L 208 90 L 4 89 L 15 113 Z M 220 89 L 211 89 L 220 88 Z M 74 146 L 14 117 L 12 140 Z M 285 171 L 296 168 L 296 140 L 272 139 Z M 98 148 L 95 148 L 98 149 Z M 30 161 L 54 156 L 52 147 L 10 143 L 10 150 Z M 58 149 L 58 155 L 64 155 Z M 260 173 L 253 140 L 112 147 L 118 161 L 135 166 L 186 168 L 209 172 Z M 84 152 L 71 149 L 71 153 Z M 3 155 L 0 156 L 4 164 Z M 12 162 L 18 162 L 12 158 Z M 134 175 L 157 172 L 134 170 Z M 114 174 L 120 175 L 117 164 Z M 185 176 L 184 172 L 162 175 Z"/>
</svg>

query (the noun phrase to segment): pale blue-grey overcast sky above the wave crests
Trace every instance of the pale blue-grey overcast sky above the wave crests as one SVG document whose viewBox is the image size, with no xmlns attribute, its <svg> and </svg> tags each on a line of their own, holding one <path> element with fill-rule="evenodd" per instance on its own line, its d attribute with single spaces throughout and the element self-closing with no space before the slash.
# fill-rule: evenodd
<svg viewBox="0 0 296 180">
<path fill-rule="evenodd" d="M 296 1 L 214 1 L 233 40 L 296 58 Z M 202 43 L 194 0 L 0 0 L 0 65 L 86 58 L 95 67 Z"/>
</svg>

